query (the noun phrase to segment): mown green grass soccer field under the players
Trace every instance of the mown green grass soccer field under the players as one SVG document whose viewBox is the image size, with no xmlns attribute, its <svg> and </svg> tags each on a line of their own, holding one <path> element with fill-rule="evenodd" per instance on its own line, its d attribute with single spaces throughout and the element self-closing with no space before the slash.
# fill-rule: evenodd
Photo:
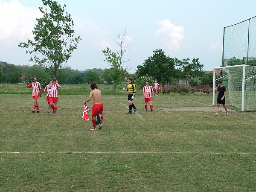
<svg viewBox="0 0 256 192">
<path fill-rule="evenodd" d="M 0 94 L 0 191 L 256 191 L 256 113 L 215 117 L 211 96 L 166 94 L 126 114 L 125 94 L 103 95 L 90 131 L 87 97 L 60 95 L 53 116 L 45 96 L 32 114 L 31 94 Z"/>
</svg>

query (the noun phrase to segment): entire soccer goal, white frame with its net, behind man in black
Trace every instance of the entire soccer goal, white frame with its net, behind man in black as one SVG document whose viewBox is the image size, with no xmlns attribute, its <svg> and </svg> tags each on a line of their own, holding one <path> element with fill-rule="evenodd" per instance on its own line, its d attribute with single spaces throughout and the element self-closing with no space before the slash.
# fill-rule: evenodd
<svg viewBox="0 0 256 192">
<path fill-rule="evenodd" d="M 226 104 L 241 108 L 241 111 L 256 111 L 256 66 L 215 67 L 213 74 L 212 105 L 216 102 L 217 83 L 222 81 L 227 91 Z"/>
</svg>

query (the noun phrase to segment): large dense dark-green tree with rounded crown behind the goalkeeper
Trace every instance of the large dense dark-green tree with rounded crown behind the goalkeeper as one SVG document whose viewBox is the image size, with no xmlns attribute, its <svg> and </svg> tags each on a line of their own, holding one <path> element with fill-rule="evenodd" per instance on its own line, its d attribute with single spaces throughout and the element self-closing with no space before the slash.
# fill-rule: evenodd
<svg viewBox="0 0 256 192">
<path fill-rule="evenodd" d="M 135 74 L 138 78 L 148 74 L 148 76 L 154 77 L 159 82 L 169 81 L 171 78 L 178 78 L 179 73 L 175 69 L 175 65 L 178 62 L 177 58 L 170 58 L 166 56 L 162 49 L 157 49 L 153 51 L 153 56 L 144 61 L 143 66 L 137 66 Z"/>
</svg>

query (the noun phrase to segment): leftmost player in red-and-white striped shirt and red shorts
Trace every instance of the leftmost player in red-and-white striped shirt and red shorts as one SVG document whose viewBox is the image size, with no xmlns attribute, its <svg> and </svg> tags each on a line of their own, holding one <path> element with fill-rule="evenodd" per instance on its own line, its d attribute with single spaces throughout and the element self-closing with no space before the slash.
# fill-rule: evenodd
<svg viewBox="0 0 256 192">
<path fill-rule="evenodd" d="M 38 106 L 38 97 L 42 96 L 41 95 L 41 84 L 39 82 L 36 81 L 36 77 L 32 78 L 33 81 L 32 83 L 29 84 L 29 82 L 27 83 L 27 88 L 32 88 L 32 96 L 33 96 L 33 100 L 34 100 L 34 108 L 33 111 L 31 113 L 35 113 L 35 108 L 37 109 L 37 113 L 39 113 L 39 106 Z"/>
</svg>

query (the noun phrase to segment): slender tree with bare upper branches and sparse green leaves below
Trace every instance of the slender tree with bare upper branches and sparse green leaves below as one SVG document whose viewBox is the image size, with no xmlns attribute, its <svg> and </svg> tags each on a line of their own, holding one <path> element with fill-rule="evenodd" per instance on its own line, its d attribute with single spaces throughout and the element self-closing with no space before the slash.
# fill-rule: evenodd
<svg viewBox="0 0 256 192">
<path fill-rule="evenodd" d="M 116 85 L 122 82 L 122 75 L 127 73 L 127 68 L 123 68 L 122 64 L 125 62 L 130 61 L 130 59 L 125 60 L 124 55 L 125 52 L 129 50 L 129 47 L 131 45 L 131 42 L 129 41 L 128 35 L 126 30 L 119 32 L 116 34 L 117 39 L 116 43 L 119 46 L 119 50 L 117 51 L 117 54 L 115 52 L 112 52 L 108 47 L 107 49 L 104 49 L 102 52 L 106 56 L 105 62 L 107 62 L 112 70 L 112 73 L 110 74 L 113 84 L 114 84 L 114 92 L 116 93 Z"/>
</svg>

